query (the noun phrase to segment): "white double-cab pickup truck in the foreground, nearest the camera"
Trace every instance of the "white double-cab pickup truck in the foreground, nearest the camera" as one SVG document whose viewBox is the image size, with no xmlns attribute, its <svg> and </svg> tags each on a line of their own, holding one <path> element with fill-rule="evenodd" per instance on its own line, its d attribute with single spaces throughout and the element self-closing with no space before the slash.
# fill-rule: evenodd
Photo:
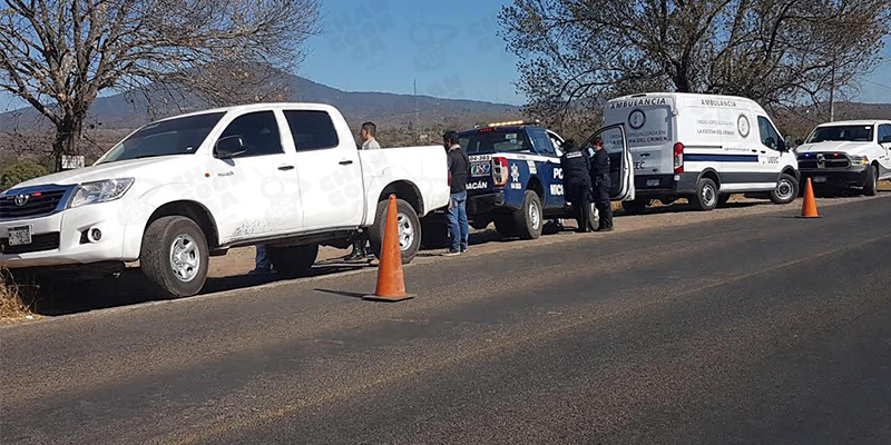
<svg viewBox="0 0 891 445">
<path fill-rule="evenodd" d="M 277 270 L 309 271 L 320 245 L 383 237 L 399 198 L 410 261 L 421 218 L 449 204 L 442 147 L 358 150 L 343 116 L 315 103 L 251 105 L 149 123 L 92 167 L 0 194 L 0 266 L 57 271 L 139 261 L 168 296 L 204 286 L 208 257 L 264 244 Z"/>
</svg>

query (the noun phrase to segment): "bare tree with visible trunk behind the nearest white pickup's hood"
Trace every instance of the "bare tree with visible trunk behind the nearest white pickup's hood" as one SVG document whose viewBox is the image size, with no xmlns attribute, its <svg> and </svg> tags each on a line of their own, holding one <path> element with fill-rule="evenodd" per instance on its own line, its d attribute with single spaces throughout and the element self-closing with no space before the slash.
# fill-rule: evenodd
<svg viewBox="0 0 891 445">
<path fill-rule="evenodd" d="M 304 57 L 319 0 L 4 0 L 0 90 L 56 129 L 52 156 L 79 154 L 106 90 L 209 103 L 262 99 Z M 247 93 L 247 96 L 245 96 Z"/>
</svg>

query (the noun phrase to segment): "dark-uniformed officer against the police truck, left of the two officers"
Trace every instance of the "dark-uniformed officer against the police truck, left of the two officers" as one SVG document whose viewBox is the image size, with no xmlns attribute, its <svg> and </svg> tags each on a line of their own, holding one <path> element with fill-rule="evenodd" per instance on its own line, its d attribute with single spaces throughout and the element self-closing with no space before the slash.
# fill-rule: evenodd
<svg viewBox="0 0 891 445">
<path fill-rule="evenodd" d="M 564 187 L 566 197 L 572 202 L 576 212 L 578 229 L 586 234 L 591 231 L 591 165 L 588 156 L 576 147 L 572 139 L 567 139 L 561 146 L 564 155 L 560 157 L 560 167 L 564 170 Z"/>
</svg>

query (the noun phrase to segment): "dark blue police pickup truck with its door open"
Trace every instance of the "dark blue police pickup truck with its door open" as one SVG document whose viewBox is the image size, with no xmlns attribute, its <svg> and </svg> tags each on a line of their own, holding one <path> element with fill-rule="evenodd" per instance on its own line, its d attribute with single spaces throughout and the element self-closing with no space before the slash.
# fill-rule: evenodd
<svg viewBox="0 0 891 445">
<path fill-rule="evenodd" d="M 505 237 L 535 239 L 546 219 L 574 217 L 564 196 L 564 139 L 556 132 L 538 122 L 511 121 L 458 136 L 470 157 L 467 214 L 473 228 L 495 222 Z M 598 136 L 611 160 L 611 199 L 634 199 L 634 170 L 624 125 L 598 130 L 581 147 L 590 149 Z"/>
</svg>

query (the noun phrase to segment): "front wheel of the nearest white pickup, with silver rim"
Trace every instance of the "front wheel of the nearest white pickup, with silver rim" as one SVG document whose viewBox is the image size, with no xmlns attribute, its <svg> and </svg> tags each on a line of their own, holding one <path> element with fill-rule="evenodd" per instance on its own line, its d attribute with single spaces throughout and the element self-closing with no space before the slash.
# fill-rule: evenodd
<svg viewBox="0 0 891 445">
<path fill-rule="evenodd" d="M 189 297 L 207 279 L 209 255 L 204 233 L 183 216 L 165 216 L 143 234 L 139 265 L 156 291 L 166 297 Z"/>
</svg>

